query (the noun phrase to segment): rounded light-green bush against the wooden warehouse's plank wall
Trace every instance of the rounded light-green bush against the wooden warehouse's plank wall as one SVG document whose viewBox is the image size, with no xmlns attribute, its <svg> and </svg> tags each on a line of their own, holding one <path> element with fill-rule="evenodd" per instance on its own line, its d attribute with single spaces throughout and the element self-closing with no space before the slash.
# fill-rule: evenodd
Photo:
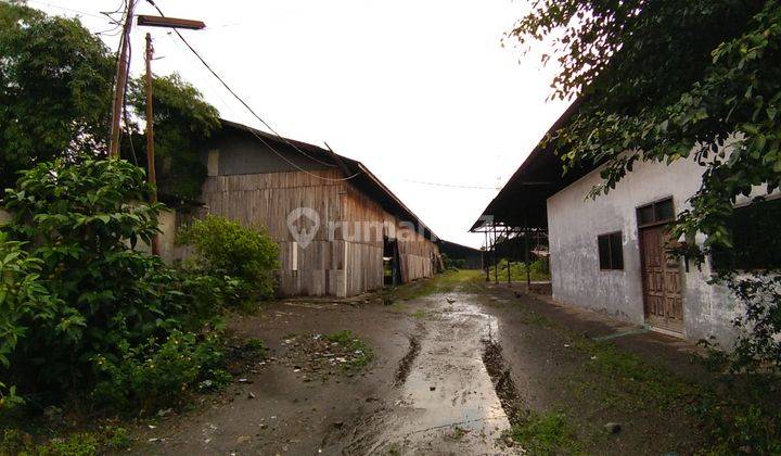
<svg viewBox="0 0 781 456">
<path fill-rule="evenodd" d="M 209 275 L 240 278 L 247 297 L 273 295 L 279 246 L 265 229 L 208 215 L 182 229 L 177 240 L 193 246 L 200 267 Z"/>
</svg>

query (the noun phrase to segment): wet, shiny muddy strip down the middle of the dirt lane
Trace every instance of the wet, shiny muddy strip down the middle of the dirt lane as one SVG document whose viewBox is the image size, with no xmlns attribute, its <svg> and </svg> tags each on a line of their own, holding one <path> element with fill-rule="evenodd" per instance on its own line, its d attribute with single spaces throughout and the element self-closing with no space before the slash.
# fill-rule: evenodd
<svg viewBox="0 0 781 456">
<path fill-rule="evenodd" d="M 498 321 L 471 296 L 435 295 L 426 300 L 437 318 L 424 334 L 410 339 L 396 376 L 399 395 L 383 413 L 364 422 L 367 432 L 349 449 L 356 453 L 501 454 L 500 440 L 511 422 L 504 402 L 514 403 L 512 380 L 495 388 L 485 358 Z M 491 369 L 499 366 L 489 358 Z M 510 387 L 512 385 L 512 387 Z M 498 394 L 502 393 L 503 401 Z M 512 409 L 512 408 L 507 408 Z"/>
</svg>

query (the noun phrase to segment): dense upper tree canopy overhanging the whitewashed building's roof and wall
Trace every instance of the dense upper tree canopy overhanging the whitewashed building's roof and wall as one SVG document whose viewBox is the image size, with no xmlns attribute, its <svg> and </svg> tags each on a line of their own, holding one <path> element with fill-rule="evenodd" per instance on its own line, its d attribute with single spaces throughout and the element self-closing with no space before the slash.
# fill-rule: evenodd
<svg viewBox="0 0 781 456">
<path fill-rule="evenodd" d="M 547 40 L 554 97 L 580 96 L 548 138 L 567 166 L 604 164 L 607 192 L 638 161 L 695 160 L 703 185 L 677 233 L 729 244 L 726 220 L 752 186 L 781 176 L 781 4 L 774 0 L 537 1 L 512 31 Z M 727 143 L 731 144 L 731 153 Z"/>
</svg>

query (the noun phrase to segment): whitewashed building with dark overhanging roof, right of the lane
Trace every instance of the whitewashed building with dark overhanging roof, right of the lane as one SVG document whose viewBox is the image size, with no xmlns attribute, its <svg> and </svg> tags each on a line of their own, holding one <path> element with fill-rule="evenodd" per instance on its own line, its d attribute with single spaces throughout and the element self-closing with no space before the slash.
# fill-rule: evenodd
<svg viewBox="0 0 781 456">
<path fill-rule="evenodd" d="M 549 132 L 565 125 L 576 109 Z M 714 335 L 729 343 L 742 308 L 726 288 L 709 283 L 719 258 L 699 268 L 665 253 L 666 243 L 676 241 L 668 239 L 666 226 L 688 207 L 705 168 L 693 160 L 636 163 L 609 194 L 586 199 L 601 181 L 600 168 L 581 166 L 564 174 L 559 157 L 538 145 L 484 211 L 482 219 L 490 221 L 483 229 L 547 230 L 556 301 L 675 337 Z M 737 205 L 733 237 L 743 252 L 738 268 L 781 266 L 778 242 L 774 251 L 772 243 L 763 243 L 772 231 L 750 215 L 759 211 L 781 219 L 781 200 L 770 200 L 747 206 L 745 199 Z M 483 221 L 476 223 L 473 230 L 481 226 Z"/>
</svg>

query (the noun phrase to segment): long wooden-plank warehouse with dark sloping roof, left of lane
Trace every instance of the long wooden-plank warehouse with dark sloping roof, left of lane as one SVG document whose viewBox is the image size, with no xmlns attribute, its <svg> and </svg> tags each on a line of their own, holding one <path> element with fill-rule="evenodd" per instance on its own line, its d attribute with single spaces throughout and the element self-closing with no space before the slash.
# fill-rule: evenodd
<svg viewBox="0 0 781 456">
<path fill-rule="evenodd" d="M 206 211 L 268 228 L 285 295 L 350 296 L 440 267 L 434 233 L 360 162 L 228 121 L 202 160 Z"/>
</svg>

